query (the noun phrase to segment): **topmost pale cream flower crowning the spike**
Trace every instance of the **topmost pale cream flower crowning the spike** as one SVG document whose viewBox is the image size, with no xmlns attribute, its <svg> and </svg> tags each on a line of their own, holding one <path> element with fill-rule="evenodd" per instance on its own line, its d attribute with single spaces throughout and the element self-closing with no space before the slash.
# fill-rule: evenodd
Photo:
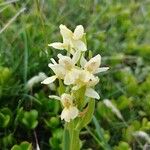
<svg viewBox="0 0 150 150">
<path fill-rule="evenodd" d="M 55 42 L 49 44 L 56 49 L 66 49 L 70 51 L 71 54 L 74 54 L 76 51 L 86 51 L 86 44 L 83 42 L 84 28 L 82 25 L 78 25 L 74 32 L 69 30 L 65 25 L 60 25 L 60 33 L 63 37 L 63 43 Z"/>
</svg>

